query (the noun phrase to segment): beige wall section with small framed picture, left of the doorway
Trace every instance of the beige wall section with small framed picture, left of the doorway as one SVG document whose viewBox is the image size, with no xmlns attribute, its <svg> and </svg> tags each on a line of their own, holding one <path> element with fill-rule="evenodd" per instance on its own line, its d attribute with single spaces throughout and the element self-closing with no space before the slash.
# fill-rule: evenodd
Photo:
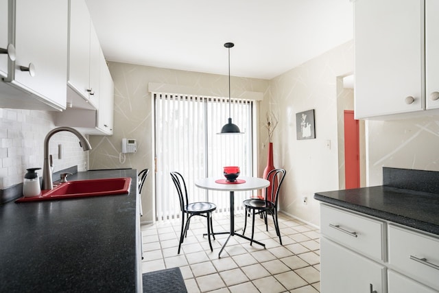
<svg viewBox="0 0 439 293">
<path fill-rule="evenodd" d="M 264 100 L 279 117 L 273 137 L 274 165 L 287 170 L 280 209 L 316 225 L 320 208 L 313 194 L 339 185 L 337 77 L 352 72 L 353 43 L 348 42 L 270 80 L 270 95 Z M 316 139 L 297 140 L 296 113 L 311 109 L 315 110 Z M 260 160 L 265 156 L 266 150 Z M 302 204 L 304 196 L 307 205 Z"/>
</svg>

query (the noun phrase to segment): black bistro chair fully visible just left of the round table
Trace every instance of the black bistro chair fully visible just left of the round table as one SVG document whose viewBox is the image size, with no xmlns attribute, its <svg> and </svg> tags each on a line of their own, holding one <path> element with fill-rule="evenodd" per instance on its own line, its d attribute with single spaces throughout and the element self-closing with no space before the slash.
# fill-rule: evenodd
<svg viewBox="0 0 439 293">
<path fill-rule="evenodd" d="M 178 198 L 180 199 L 180 209 L 182 211 L 181 217 L 181 233 L 180 233 L 180 243 L 178 244 L 178 254 L 180 254 L 181 244 L 183 239 L 187 237 L 187 230 L 189 229 L 189 223 L 194 215 L 201 215 L 207 219 L 207 237 L 209 239 L 209 246 L 211 246 L 211 251 L 213 251 L 211 243 L 211 235 L 215 239 L 213 234 L 212 225 L 212 212 L 217 209 L 217 206 L 211 202 L 191 202 L 189 203 L 187 188 L 185 183 L 185 178 L 178 172 L 171 172 L 171 178 L 176 186 Z M 186 224 L 185 224 L 185 218 Z"/>
</svg>

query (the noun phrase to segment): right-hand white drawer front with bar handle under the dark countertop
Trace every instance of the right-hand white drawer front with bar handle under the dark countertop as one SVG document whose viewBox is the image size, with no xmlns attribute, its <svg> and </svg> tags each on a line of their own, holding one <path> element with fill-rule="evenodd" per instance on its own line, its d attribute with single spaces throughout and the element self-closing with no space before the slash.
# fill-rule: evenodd
<svg viewBox="0 0 439 293">
<path fill-rule="evenodd" d="M 389 225 L 389 266 L 439 290 L 439 239 Z"/>
</svg>

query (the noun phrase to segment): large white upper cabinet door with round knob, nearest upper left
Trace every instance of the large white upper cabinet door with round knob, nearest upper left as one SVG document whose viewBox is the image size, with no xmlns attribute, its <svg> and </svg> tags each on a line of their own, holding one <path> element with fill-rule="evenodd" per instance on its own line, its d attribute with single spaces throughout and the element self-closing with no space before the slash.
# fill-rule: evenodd
<svg viewBox="0 0 439 293">
<path fill-rule="evenodd" d="M 16 0 L 15 78 L 44 102 L 65 108 L 67 0 Z M 34 66 L 34 76 L 21 67 Z"/>
</svg>

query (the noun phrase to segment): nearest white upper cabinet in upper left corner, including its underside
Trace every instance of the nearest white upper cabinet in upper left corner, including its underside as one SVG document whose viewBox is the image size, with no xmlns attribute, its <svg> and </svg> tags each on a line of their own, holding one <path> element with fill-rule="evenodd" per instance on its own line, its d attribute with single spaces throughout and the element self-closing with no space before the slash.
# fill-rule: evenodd
<svg viewBox="0 0 439 293">
<path fill-rule="evenodd" d="M 8 60 L 8 76 L 0 84 L 5 108 L 63 110 L 67 81 L 67 0 L 1 0 L 8 12 L 8 39 L 14 40 L 16 59 Z M 6 8 L 5 5 L 8 5 Z M 5 49 L 5 18 L 0 41 Z M 14 35 L 12 35 L 14 33 Z M 5 60 L 1 54 L 0 71 Z"/>
</svg>

